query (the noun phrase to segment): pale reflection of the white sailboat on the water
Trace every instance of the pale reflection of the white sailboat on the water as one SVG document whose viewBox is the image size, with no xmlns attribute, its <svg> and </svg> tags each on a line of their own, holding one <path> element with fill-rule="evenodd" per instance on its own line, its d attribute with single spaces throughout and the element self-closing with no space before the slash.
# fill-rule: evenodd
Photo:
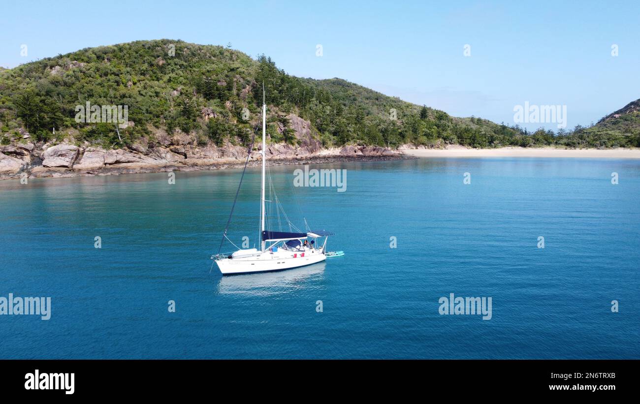
<svg viewBox="0 0 640 404">
<path fill-rule="evenodd" d="M 326 261 L 278 272 L 223 276 L 218 282 L 218 293 L 253 296 L 288 293 L 308 287 L 308 281 L 322 279 L 324 267 L 326 267 Z"/>
</svg>

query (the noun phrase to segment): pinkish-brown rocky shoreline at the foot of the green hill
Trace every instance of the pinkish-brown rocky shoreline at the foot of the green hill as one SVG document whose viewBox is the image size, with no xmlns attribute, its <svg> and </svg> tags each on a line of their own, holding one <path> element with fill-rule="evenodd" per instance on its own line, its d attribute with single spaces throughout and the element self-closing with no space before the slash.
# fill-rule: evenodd
<svg viewBox="0 0 640 404">
<path fill-rule="evenodd" d="M 164 144 L 163 144 L 164 143 Z M 253 150 L 249 166 L 261 161 Z M 289 144 L 271 144 L 266 150 L 269 165 L 324 164 L 342 161 L 412 159 L 401 151 L 378 146 L 344 146 L 323 149 L 317 145 L 294 148 Z M 166 171 L 200 171 L 244 166 L 243 146 L 195 146 L 189 137 L 164 139 L 164 142 L 137 142 L 126 150 L 104 150 L 70 143 L 14 143 L 0 146 L 0 179 L 120 175 Z"/>
</svg>

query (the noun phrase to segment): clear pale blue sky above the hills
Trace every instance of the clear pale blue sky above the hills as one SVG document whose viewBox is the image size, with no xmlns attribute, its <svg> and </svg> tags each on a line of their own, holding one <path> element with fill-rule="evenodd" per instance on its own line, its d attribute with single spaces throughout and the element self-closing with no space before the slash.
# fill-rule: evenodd
<svg viewBox="0 0 640 404">
<path fill-rule="evenodd" d="M 509 124 L 525 101 L 567 105 L 573 127 L 640 98 L 639 1 L 343 3 L 2 0 L 0 65 L 170 38 L 231 42 L 271 56 L 289 74 L 340 77 L 454 116 Z M 28 56 L 20 56 L 22 44 Z"/>
</svg>

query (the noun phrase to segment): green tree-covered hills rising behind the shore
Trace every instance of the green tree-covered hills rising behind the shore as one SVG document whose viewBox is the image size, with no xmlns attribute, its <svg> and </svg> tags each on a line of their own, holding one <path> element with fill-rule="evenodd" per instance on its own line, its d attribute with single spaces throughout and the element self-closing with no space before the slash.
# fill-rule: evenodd
<svg viewBox="0 0 640 404">
<path fill-rule="evenodd" d="M 48 141 L 55 128 L 56 136 L 71 133 L 77 143 L 123 147 L 164 129 L 188 133 L 199 144 L 246 144 L 259 126 L 263 82 L 272 142 L 296 143 L 294 114 L 310 121 L 311 136 L 324 146 L 638 145 L 637 111 L 592 128 L 531 134 L 481 118 L 454 118 L 342 79 L 294 77 L 265 56 L 179 40 L 82 49 L 0 70 L 0 136 L 5 144 L 24 132 Z M 131 123 L 120 130 L 113 123 L 78 123 L 76 106 L 86 102 L 127 105 Z"/>
</svg>

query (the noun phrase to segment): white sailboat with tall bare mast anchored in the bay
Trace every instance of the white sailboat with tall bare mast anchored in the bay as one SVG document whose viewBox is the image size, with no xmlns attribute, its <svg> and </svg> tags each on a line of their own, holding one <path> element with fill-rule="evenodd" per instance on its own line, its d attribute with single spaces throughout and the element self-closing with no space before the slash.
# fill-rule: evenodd
<svg viewBox="0 0 640 404">
<path fill-rule="evenodd" d="M 230 254 L 218 254 L 211 256 L 218 265 L 223 275 L 232 274 L 248 274 L 253 272 L 269 272 L 277 270 L 292 269 L 304 267 L 326 260 L 327 256 L 335 256 L 335 252 L 328 253 L 326 251 L 326 242 L 330 233 L 326 230 L 314 231 L 271 231 L 265 226 L 266 210 L 265 210 L 265 172 L 266 172 L 266 116 L 267 104 L 264 100 L 264 85 L 262 88 L 262 181 L 260 186 L 260 249 L 238 249 Z M 253 146 L 253 142 L 252 142 Z M 251 153 L 250 146 L 248 154 Z M 247 162 L 249 159 L 247 156 Z M 244 165 L 246 170 L 246 163 Z M 244 171 L 243 171 L 244 177 Z M 240 185 L 242 184 L 242 178 Z M 239 190 L 239 187 L 238 187 Z M 237 192 L 236 192 L 237 199 Z M 234 201 L 235 206 L 235 201 Z M 233 214 L 233 208 L 227 221 L 227 228 L 223 233 L 223 239 L 227 238 L 227 229 Z M 288 219 L 287 219 L 288 221 Z M 306 221 L 305 221 L 306 225 Z M 291 228 L 290 228 L 291 230 Z M 324 238 L 324 240 L 323 240 Z M 310 239 L 310 240 L 308 240 Z M 227 238 L 228 240 L 228 238 Z M 230 240 L 229 240 L 230 241 Z M 319 242 L 322 246 L 319 246 Z M 222 242 L 220 245 L 222 245 Z M 237 248 L 237 247 L 236 247 Z M 339 251 L 338 253 L 342 253 Z M 344 253 L 343 253 L 344 254 Z"/>
</svg>

